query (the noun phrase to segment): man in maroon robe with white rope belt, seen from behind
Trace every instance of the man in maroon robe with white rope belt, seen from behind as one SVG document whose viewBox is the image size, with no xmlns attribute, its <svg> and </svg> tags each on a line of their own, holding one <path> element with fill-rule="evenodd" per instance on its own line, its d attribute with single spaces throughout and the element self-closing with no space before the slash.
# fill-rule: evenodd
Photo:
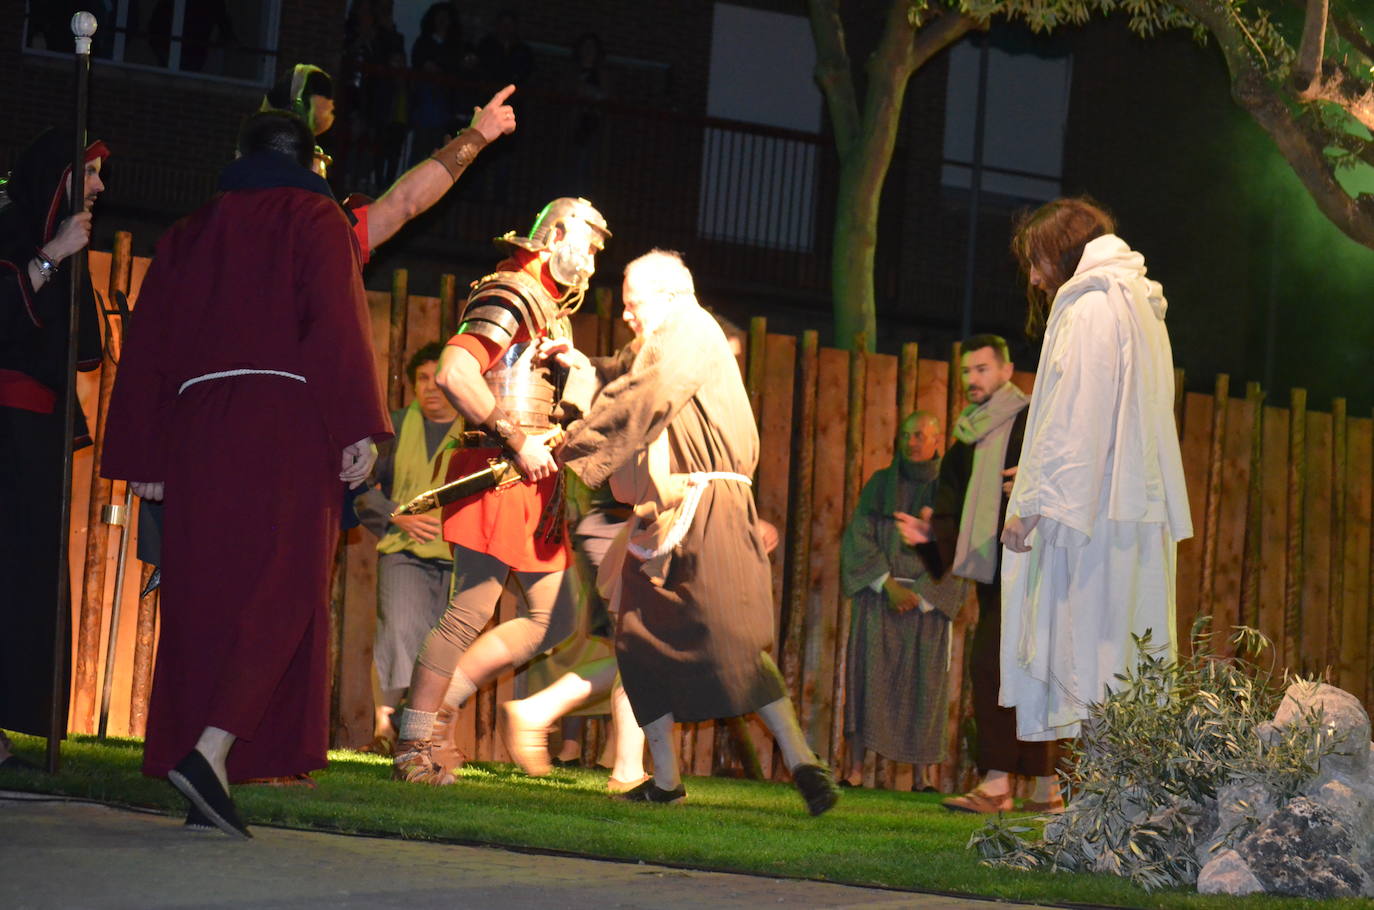
<svg viewBox="0 0 1374 910">
<path fill-rule="evenodd" d="M 326 764 L 344 482 L 392 434 L 357 242 L 313 147 L 298 117 L 254 114 L 223 192 L 158 242 L 102 463 L 166 503 L 143 773 L 190 823 L 243 836 L 229 779 Z"/>
</svg>

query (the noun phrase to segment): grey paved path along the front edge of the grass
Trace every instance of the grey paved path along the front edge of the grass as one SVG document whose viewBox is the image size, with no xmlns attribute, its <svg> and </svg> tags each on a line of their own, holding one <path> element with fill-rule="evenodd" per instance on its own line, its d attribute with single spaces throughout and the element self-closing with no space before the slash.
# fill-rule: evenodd
<svg viewBox="0 0 1374 910">
<path fill-rule="evenodd" d="M 0 792 L 0 907 L 915 907 L 999 905 L 664 866 L 180 819 Z M 1009 906 L 1009 905 L 1000 905 Z"/>
</svg>

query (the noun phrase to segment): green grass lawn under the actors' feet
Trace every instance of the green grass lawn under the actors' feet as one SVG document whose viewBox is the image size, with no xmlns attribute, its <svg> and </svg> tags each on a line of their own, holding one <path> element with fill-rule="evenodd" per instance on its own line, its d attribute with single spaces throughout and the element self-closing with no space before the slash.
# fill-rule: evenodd
<svg viewBox="0 0 1374 910">
<path fill-rule="evenodd" d="M 43 741 L 15 737 L 40 762 Z M 0 771 L 0 789 L 62 793 L 183 814 L 164 781 L 139 774 L 142 742 L 74 737 L 62 773 Z M 840 806 L 811 818 L 780 784 L 688 778 L 679 807 L 629 806 L 606 796 L 606 774 L 558 770 L 528 778 L 511 766 L 463 768 L 458 784 L 431 789 L 390 779 L 390 760 L 335 752 L 319 789 L 235 788 L 250 825 L 372 833 L 411 840 L 502 844 L 584 856 L 642 859 L 695 869 L 916 888 L 1044 903 L 1121 907 L 1283 907 L 1278 898 L 1147 894 L 1125 881 L 1081 874 L 1018 873 L 981 866 L 966 848 L 982 819 L 947 812 L 934 793 L 845 790 Z M 1369 907 L 1333 900 L 1329 907 Z"/>
</svg>

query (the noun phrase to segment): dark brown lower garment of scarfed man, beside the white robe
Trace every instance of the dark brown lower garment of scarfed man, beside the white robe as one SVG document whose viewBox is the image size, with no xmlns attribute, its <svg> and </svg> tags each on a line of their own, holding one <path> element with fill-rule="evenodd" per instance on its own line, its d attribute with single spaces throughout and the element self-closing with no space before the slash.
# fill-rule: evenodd
<svg viewBox="0 0 1374 910">
<path fill-rule="evenodd" d="M 1017 712 L 998 704 L 1002 687 L 1002 581 L 978 584 L 978 628 L 973 634 L 973 718 L 978 726 L 978 771 L 1048 777 L 1058 742 L 1017 740 Z"/>
</svg>

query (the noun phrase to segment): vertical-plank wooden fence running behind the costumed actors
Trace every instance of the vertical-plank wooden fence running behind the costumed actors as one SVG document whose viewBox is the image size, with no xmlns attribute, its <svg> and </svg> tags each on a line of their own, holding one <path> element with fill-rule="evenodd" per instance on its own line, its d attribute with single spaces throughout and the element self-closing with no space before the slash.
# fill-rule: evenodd
<svg viewBox="0 0 1374 910">
<path fill-rule="evenodd" d="M 107 286 L 131 289 L 136 301 L 147 263 L 129 260 L 126 242 L 117 243 L 113 257 L 92 253 L 91 265 L 102 293 Z M 445 276 L 437 297 L 409 294 L 405 272 L 397 271 L 392 285 L 390 294 L 371 291 L 368 298 L 378 375 L 392 406 L 400 407 L 405 359 L 453 330 L 458 283 Z M 598 291 L 594 302 L 574 318 L 574 338 L 584 351 L 610 352 L 628 340 L 628 331 L 613 315 L 609 291 Z M 769 334 L 763 319 L 749 326 L 743 368 L 763 440 L 756 493 L 760 514 L 778 526 L 783 540 L 772 562 L 774 653 L 809 741 L 837 766 L 846 760 L 841 726 L 849 627 L 849 602 L 840 591 L 840 537 L 863 482 L 890 462 L 899 415 L 922 408 L 940 415 L 948 428 L 949 415 L 963 407 L 956 362 L 956 352 L 919 352 L 915 344 L 900 356 L 853 355 L 820 348 L 816 333 Z M 1015 382 L 1029 390 L 1033 375 L 1018 373 Z M 99 390 L 107 384 L 99 374 L 82 377 L 81 400 L 93 426 L 103 410 Z M 1374 421 L 1349 417 L 1340 399 L 1330 412 L 1309 411 L 1301 389 L 1293 390 L 1287 404 L 1265 403 L 1254 384 L 1246 386 L 1243 399 L 1231 397 L 1226 375 L 1216 378 L 1213 395 L 1178 396 L 1197 533 L 1179 548 L 1179 630 L 1186 634 L 1194 619 L 1210 614 L 1217 647 L 1227 652 L 1220 630 L 1239 623 L 1259 627 L 1275 642 L 1281 667 L 1326 674 L 1369 704 L 1374 691 L 1369 658 Z M 98 726 L 98 680 L 111 625 L 115 535 L 100 531 L 99 506 L 124 495 L 122 482 L 91 485 L 92 455 L 87 450 L 77 460 L 73 509 L 71 553 L 88 554 L 84 562 L 73 557 L 73 591 L 89 588 L 73 605 L 81 630 L 73 661 L 76 731 Z M 95 533 L 88 533 L 91 528 Z M 142 573 L 132 555 L 131 562 L 111 672 L 109 730 L 120 735 L 143 733 L 155 638 L 155 595 L 139 602 Z M 334 741 L 356 748 L 372 733 L 375 539 L 361 529 L 349 532 L 339 564 L 333 603 Z M 514 616 L 515 609 L 515 597 L 507 594 L 495 621 Z M 949 759 L 937 774 L 947 792 L 969 782 L 966 654 L 976 621 L 970 597 L 954 625 Z M 496 705 L 513 697 L 515 686 L 507 675 L 464 707 L 459 741 L 477 759 L 508 760 L 496 735 Z M 599 752 L 605 735 L 600 720 L 587 724 L 588 757 Z M 680 751 L 688 774 L 785 774 L 756 719 L 682 724 Z M 870 785 L 905 789 L 916 779 L 911 766 L 872 755 L 864 767 Z"/>
</svg>

